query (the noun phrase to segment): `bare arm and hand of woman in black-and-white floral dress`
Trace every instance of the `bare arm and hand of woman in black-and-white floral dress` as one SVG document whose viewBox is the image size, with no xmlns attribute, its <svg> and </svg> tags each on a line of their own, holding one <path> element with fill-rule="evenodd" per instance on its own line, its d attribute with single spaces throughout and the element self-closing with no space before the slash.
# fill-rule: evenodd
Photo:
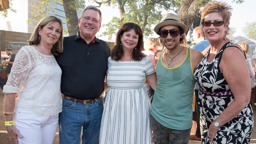
<svg viewBox="0 0 256 144">
<path fill-rule="evenodd" d="M 246 60 L 237 48 L 227 48 L 220 61 L 220 69 L 234 95 L 234 101 L 216 119 L 220 126 L 235 118 L 250 102 L 251 84 Z M 212 123 L 209 126 L 210 142 L 213 141 L 218 127 Z"/>
</svg>

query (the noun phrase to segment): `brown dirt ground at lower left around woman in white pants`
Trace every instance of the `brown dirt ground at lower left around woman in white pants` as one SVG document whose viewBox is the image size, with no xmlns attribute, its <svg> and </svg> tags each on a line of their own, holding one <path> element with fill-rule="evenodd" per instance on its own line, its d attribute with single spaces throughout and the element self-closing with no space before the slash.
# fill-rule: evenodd
<svg viewBox="0 0 256 144">
<path fill-rule="evenodd" d="M 1 89 L 1 88 L 0 88 Z M 3 108 L 3 102 L 4 102 L 4 93 L 2 92 L 2 89 L 0 90 L 0 143 L 1 144 L 13 144 L 13 142 L 9 139 L 9 134 L 7 133 L 4 122 L 4 108 Z M 54 142 L 53 144 L 59 144 L 59 129 L 57 129 Z"/>
</svg>

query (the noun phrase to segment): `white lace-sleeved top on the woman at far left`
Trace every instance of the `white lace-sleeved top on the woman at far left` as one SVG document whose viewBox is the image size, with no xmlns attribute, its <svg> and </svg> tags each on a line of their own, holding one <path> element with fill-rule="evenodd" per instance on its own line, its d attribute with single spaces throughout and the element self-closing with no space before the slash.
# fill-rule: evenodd
<svg viewBox="0 0 256 144">
<path fill-rule="evenodd" d="M 53 55 L 32 46 L 21 48 L 15 57 L 4 93 L 19 93 L 16 106 L 43 116 L 62 111 L 61 68 Z"/>
</svg>

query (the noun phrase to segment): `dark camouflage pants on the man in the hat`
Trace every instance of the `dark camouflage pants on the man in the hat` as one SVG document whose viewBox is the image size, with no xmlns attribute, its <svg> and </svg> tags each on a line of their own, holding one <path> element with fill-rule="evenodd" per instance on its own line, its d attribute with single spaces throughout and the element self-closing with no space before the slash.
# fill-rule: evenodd
<svg viewBox="0 0 256 144">
<path fill-rule="evenodd" d="M 188 144 L 191 128 L 176 130 L 161 125 L 151 115 L 151 125 L 154 133 L 155 144 Z"/>
</svg>

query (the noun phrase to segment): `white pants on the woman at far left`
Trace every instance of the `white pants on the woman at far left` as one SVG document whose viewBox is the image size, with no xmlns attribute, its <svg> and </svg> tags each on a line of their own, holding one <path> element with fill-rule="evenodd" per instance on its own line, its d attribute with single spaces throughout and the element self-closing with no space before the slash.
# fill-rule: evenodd
<svg viewBox="0 0 256 144">
<path fill-rule="evenodd" d="M 52 144 L 58 126 L 59 114 L 38 115 L 30 109 L 16 107 L 14 125 L 23 136 L 19 144 Z"/>
</svg>

